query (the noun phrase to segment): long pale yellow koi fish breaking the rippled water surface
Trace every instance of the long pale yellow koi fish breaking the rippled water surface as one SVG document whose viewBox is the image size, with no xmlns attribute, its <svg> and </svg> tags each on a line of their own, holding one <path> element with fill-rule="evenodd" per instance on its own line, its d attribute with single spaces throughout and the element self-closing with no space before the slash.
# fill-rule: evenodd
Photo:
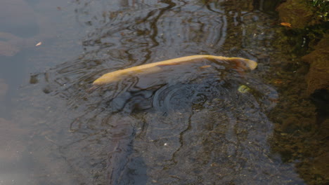
<svg viewBox="0 0 329 185">
<path fill-rule="evenodd" d="M 170 67 L 174 65 L 180 64 L 196 64 L 201 63 L 202 66 L 200 68 L 209 67 L 208 64 L 204 64 L 205 60 L 219 60 L 228 63 L 233 63 L 238 69 L 255 69 L 257 67 L 257 62 L 253 60 L 247 60 L 245 58 L 240 57 L 221 57 L 214 55 L 192 55 L 188 57 L 179 57 L 171 60 L 164 60 L 161 62 L 154 62 L 150 64 L 143 64 L 136 67 L 130 67 L 127 69 L 112 71 L 108 74 L 104 74 L 100 78 L 97 78 L 96 81 L 93 81 L 93 85 L 105 85 L 108 83 L 120 81 L 129 76 L 138 76 L 145 74 L 155 74 L 157 72 L 162 71 L 163 67 Z"/>
</svg>

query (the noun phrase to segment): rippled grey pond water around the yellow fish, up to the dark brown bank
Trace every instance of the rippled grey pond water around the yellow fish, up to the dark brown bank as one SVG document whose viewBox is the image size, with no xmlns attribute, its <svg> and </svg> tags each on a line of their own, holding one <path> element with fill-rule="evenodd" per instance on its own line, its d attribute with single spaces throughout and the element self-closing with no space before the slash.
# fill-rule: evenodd
<svg viewBox="0 0 329 185">
<path fill-rule="evenodd" d="M 278 45 L 275 7 L 1 1 L 0 184 L 306 184 L 298 161 L 273 151 L 269 115 L 281 90 L 271 80 L 295 57 Z M 188 55 L 259 64 L 241 72 L 204 60 L 92 85 L 110 71 Z"/>
</svg>

